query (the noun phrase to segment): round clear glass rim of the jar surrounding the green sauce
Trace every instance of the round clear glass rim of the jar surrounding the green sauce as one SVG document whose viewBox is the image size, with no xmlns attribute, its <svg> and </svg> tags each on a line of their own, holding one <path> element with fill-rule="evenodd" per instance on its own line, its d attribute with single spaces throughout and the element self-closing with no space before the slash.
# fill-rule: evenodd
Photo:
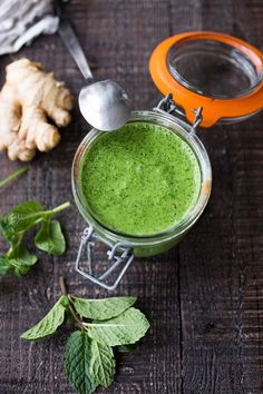
<svg viewBox="0 0 263 394">
<path fill-rule="evenodd" d="M 185 233 L 193 224 L 198 219 L 201 214 L 203 213 L 211 194 L 212 187 L 212 169 L 211 162 L 208 159 L 208 155 L 206 149 L 204 148 L 203 144 L 198 139 L 195 134 L 191 132 L 191 126 L 185 121 L 181 120 L 177 117 L 159 114 L 155 111 L 133 111 L 130 119 L 128 122 L 133 121 L 147 121 L 154 122 L 157 125 L 162 125 L 176 135 L 181 136 L 189 146 L 189 148 L 194 151 L 198 159 L 199 169 L 202 174 L 202 181 L 201 181 L 201 193 L 196 204 L 185 215 L 185 217 L 178 221 L 175 226 L 168 228 L 165 232 L 156 233 L 153 235 L 129 235 L 119 233 L 108 228 L 107 226 L 103 225 L 92 214 L 91 209 L 89 209 L 82 194 L 80 187 L 80 173 L 81 173 L 81 164 L 85 155 L 87 154 L 91 144 L 99 138 L 105 131 L 100 131 L 97 129 L 91 129 L 87 136 L 80 142 L 75 158 L 72 162 L 72 171 L 71 171 L 71 184 L 72 184 L 72 194 L 77 205 L 78 210 L 85 218 L 85 220 L 91 225 L 98 233 L 104 233 L 107 237 L 111 240 L 124 242 L 126 244 L 133 245 L 150 245 L 156 243 L 162 243 L 168 239 L 173 239 L 174 237 L 178 237 L 181 234 Z M 111 131 L 114 132 L 114 131 Z"/>
</svg>

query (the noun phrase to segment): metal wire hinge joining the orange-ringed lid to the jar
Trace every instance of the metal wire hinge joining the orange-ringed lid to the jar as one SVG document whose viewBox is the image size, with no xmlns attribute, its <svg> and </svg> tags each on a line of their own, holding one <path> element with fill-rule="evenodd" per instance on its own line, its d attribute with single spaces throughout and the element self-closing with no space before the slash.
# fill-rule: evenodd
<svg viewBox="0 0 263 394">
<path fill-rule="evenodd" d="M 165 114 L 169 114 L 169 115 L 173 115 L 173 112 L 176 112 L 176 114 L 183 116 L 184 118 L 186 117 L 185 112 L 173 100 L 173 95 L 172 93 L 168 93 L 167 96 L 165 96 L 158 102 L 157 107 L 154 108 L 154 110 L 157 111 L 157 112 L 160 112 L 160 114 L 165 112 Z M 203 120 L 202 111 L 203 111 L 203 107 L 198 107 L 197 109 L 193 109 L 193 112 L 195 114 L 195 119 L 194 119 L 194 122 L 193 122 L 192 128 L 191 128 L 191 132 L 193 132 L 193 134 L 196 132 L 196 128 L 198 127 L 198 125 Z"/>
</svg>

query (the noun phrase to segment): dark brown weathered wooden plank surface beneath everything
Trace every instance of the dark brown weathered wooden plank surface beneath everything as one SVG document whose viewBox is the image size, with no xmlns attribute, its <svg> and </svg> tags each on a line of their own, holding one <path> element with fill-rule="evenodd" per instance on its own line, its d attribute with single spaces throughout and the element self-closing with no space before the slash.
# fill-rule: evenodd
<svg viewBox="0 0 263 394">
<path fill-rule="evenodd" d="M 96 76 L 124 86 L 137 109 L 159 99 L 148 58 L 162 39 L 187 30 L 216 30 L 263 49 L 260 0 L 75 0 L 67 6 Z M 0 58 L 4 66 L 28 56 L 53 70 L 77 96 L 82 79 L 58 36 Z M 0 213 L 36 198 L 47 207 L 72 200 L 70 166 L 89 128 L 77 106 L 59 147 L 38 155 L 27 176 L 0 193 Z M 116 295 L 138 295 L 152 328 L 119 361 L 116 383 L 99 393 L 263 393 L 263 114 L 233 126 L 201 130 L 213 165 L 213 193 L 203 217 L 171 252 L 137 260 Z M 0 178 L 18 168 L 0 156 Z M 75 273 L 84 220 L 72 207 L 60 215 L 69 243 L 65 257 L 42 255 L 22 278 L 0 279 L 0 393 L 71 394 L 62 357 L 68 331 L 25 343 L 19 335 L 59 296 L 58 278 L 82 296 L 105 296 Z M 0 240 L 0 250 L 4 250 Z M 100 254 L 98 260 L 103 260 Z"/>
</svg>

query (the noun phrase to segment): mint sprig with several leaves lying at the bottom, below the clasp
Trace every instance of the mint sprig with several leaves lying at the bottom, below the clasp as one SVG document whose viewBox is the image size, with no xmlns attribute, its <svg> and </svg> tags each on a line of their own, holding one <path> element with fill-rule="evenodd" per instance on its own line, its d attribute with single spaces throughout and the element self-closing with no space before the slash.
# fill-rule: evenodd
<svg viewBox="0 0 263 394">
<path fill-rule="evenodd" d="M 91 394 L 101 385 L 108 387 L 116 372 L 115 351 L 130 351 L 149 328 L 145 315 L 134 303 L 135 297 L 111 297 L 87 299 L 67 293 L 60 278 L 62 296 L 51 311 L 21 338 L 43 338 L 71 316 L 78 329 L 75 331 L 65 352 L 65 372 L 78 394 Z M 96 318 L 94 318 L 96 316 Z"/>
</svg>

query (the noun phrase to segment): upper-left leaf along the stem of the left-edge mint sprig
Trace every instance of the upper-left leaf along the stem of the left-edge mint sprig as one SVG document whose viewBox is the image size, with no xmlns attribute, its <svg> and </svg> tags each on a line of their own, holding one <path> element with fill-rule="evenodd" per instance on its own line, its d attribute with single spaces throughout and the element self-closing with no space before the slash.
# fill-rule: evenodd
<svg viewBox="0 0 263 394">
<path fill-rule="evenodd" d="M 28 230 L 42 217 L 42 205 L 33 200 L 17 205 L 1 219 L 1 232 L 8 240 L 12 242 L 17 233 Z"/>
</svg>

